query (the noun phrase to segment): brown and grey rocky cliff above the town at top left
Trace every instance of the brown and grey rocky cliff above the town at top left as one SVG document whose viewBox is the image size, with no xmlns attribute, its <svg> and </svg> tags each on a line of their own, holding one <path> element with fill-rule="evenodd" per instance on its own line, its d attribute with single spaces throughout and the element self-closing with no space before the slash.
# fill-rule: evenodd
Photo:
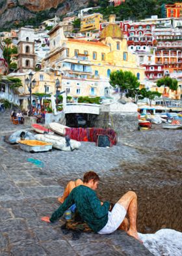
<svg viewBox="0 0 182 256">
<path fill-rule="evenodd" d="M 0 0 L 0 28 L 12 27 L 29 19 L 46 20 L 72 10 L 86 8 L 89 0 Z"/>
</svg>

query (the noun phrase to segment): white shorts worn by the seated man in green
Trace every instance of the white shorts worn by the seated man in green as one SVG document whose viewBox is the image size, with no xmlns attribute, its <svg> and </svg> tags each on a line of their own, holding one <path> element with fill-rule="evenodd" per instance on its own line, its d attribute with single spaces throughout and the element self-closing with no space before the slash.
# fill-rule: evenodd
<svg viewBox="0 0 182 256">
<path fill-rule="evenodd" d="M 118 229 L 118 227 L 120 227 L 122 224 L 125 215 L 126 210 L 122 204 L 114 204 L 112 212 L 108 212 L 107 224 L 98 232 L 98 234 L 110 234 L 116 231 L 116 229 Z"/>
</svg>

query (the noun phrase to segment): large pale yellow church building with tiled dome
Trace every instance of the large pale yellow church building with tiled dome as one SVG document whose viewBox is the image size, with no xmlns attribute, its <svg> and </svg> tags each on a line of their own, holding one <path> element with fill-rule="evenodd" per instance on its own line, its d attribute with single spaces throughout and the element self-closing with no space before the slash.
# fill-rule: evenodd
<svg viewBox="0 0 182 256">
<path fill-rule="evenodd" d="M 42 67 L 52 67 L 62 72 L 62 90 L 73 99 L 79 96 L 110 96 L 109 84 L 112 71 L 131 71 L 144 80 L 144 68 L 136 63 L 136 56 L 127 51 L 127 40 L 114 16 L 105 27 L 98 41 L 65 38 L 58 24 L 49 31 L 50 52 Z"/>
</svg>

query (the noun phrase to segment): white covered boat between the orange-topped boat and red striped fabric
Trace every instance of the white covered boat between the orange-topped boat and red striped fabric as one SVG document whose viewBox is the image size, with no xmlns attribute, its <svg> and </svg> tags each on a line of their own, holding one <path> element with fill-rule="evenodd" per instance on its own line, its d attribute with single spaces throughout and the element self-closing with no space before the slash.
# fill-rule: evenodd
<svg viewBox="0 0 182 256">
<path fill-rule="evenodd" d="M 81 146 L 81 142 L 77 140 L 70 140 L 70 146 L 66 145 L 65 137 L 58 135 L 35 135 L 37 140 L 48 142 L 53 144 L 53 148 L 57 150 L 72 151 L 78 149 Z"/>
</svg>

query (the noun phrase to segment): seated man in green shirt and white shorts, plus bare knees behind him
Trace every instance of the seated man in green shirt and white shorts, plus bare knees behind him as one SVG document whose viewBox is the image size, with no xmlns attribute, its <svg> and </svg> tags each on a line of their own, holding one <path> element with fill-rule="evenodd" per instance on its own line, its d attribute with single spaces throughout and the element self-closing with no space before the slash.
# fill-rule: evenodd
<svg viewBox="0 0 182 256">
<path fill-rule="evenodd" d="M 42 217 L 42 221 L 53 223 L 73 204 L 77 207 L 79 216 L 87 223 L 88 227 L 99 234 L 110 234 L 116 229 L 123 229 L 123 223 L 127 227 L 127 219 L 129 216 L 129 236 L 133 236 L 137 240 L 138 233 L 136 230 L 137 216 L 137 197 L 133 191 L 128 191 L 123 195 L 111 210 L 110 202 L 101 202 L 95 190 L 98 187 L 99 176 L 95 172 L 86 172 L 82 180 L 77 182 L 69 182 L 64 191 L 64 195 L 59 198 L 62 202 L 60 207 L 52 214 L 51 217 Z M 71 193 L 70 193 L 71 190 Z M 70 194 L 69 194 L 70 193 Z M 111 210 L 111 211 L 110 211 Z"/>
</svg>

